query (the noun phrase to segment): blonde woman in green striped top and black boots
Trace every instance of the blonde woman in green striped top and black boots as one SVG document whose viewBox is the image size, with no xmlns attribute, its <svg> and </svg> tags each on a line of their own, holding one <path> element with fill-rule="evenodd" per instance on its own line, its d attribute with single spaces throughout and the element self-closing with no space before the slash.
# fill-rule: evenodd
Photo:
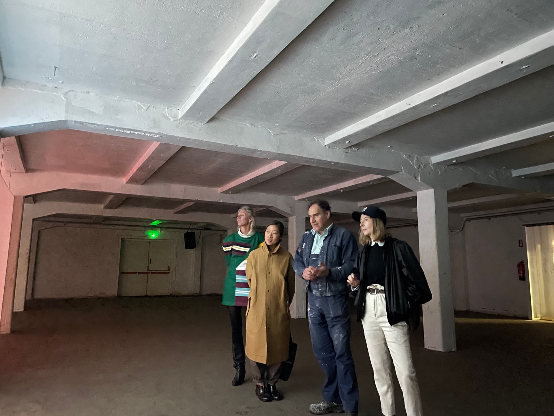
<svg viewBox="0 0 554 416">
<path fill-rule="evenodd" d="M 248 206 L 237 212 L 237 232 L 223 240 L 227 275 L 223 282 L 222 304 L 227 306 L 232 328 L 233 367 L 236 370 L 231 384 L 240 385 L 246 375 L 244 341 L 242 334 L 243 307 L 247 306 L 250 288 L 246 279 L 248 255 L 264 242 L 264 235 L 256 232 L 254 211 Z"/>
</svg>

